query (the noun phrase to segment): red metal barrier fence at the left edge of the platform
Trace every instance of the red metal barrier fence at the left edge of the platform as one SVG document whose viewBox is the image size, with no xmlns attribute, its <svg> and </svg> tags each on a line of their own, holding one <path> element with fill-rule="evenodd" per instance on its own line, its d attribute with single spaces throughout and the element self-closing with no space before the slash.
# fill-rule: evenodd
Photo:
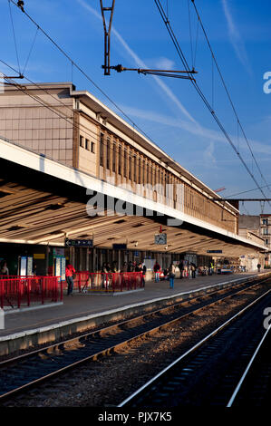
<svg viewBox="0 0 271 426">
<path fill-rule="evenodd" d="M 59 276 L 16 276 L 0 278 L 0 306 L 18 307 L 63 300 Z"/>
</svg>

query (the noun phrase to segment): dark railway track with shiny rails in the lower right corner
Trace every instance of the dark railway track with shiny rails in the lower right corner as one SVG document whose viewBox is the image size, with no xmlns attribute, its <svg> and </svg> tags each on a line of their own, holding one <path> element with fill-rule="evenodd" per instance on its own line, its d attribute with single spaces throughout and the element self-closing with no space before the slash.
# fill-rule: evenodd
<svg viewBox="0 0 271 426">
<path fill-rule="evenodd" d="M 270 304 L 271 289 L 170 363 L 118 407 L 267 404 L 271 334 L 270 327 L 266 331 L 263 326 L 263 312 Z"/>
</svg>

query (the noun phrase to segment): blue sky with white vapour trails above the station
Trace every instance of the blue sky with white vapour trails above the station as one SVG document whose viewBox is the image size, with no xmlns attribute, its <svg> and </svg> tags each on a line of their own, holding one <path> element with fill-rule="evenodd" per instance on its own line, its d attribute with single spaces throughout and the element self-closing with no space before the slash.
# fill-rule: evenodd
<svg viewBox="0 0 271 426">
<path fill-rule="evenodd" d="M 110 0 L 104 0 L 105 5 L 110 3 Z M 167 1 L 161 0 L 161 4 L 166 7 Z M 103 30 L 99 0 L 24 0 L 24 5 L 29 15 L 82 66 L 93 82 L 151 140 L 198 179 L 212 189 L 225 187 L 226 190 L 221 192 L 225 197 L 256 187 L 189 81 L 154 78 L 138 73 L 111 72 L 111 76 L 103 75 Z M 168 5 L 170 24 L 189 65 L 192 65 L 188 0 L 168 0 Z M 267 183 L 271 184 L 271 93 L 263 91 L 263 75 L 271 71 L 271 2 L 263 0 L 259 5 L 255 0 L 196 0 L 196 5 L 256 160 Z M 0 7 L 0 59 L 17 68 L 8 1 L 0 0 Z M 13 5 L 12 13 L 23 69 L 36 30 Z M 190 19 L 195 52 L 197 19 L 191 4 Z M 135 68 L 182 69 L 153 0 L 116 0 L 111 64 L 117 63 Z M 258 183 L 265 185 L 251 160 L 245 140 L 237 131 L 237 120 L 216 71 L 212 92 L 211 55 L 200 29 L 195 67 L 202 91 L 209 102 L 214 98 L 214 109 L 220 121 Z M 0 71 L 6 72 L 1 66 Z M 25 75 L 35 82 L 66 82 L 72 80 L 72 67 L 39 32 Z M 113 108 L 101 92 L 76 70 L 73 70 L 73 83 L 77 89 L 89 90 Z M 271 198 L 270 190 L 264 191 Z M 259 190 L 246 195 L 250 198 L 261 197 Z M 241 212 L 247 211 L 250 214 L 258 213 L 258 203 L 241 206 Z M 265 212 L 271 213 L 270 207 L 266 206 Z"/>
</svg>

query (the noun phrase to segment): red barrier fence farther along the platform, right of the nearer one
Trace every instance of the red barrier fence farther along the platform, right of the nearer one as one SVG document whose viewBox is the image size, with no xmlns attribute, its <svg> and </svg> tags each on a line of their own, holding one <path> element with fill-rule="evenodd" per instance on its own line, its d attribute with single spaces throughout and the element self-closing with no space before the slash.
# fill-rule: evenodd
<svg viewBox="0 0 271 426">
<path fill-rule="evenodd" d="M 141 272 L 76 272 L 73 289 L 80 293 L 91 291 L 122 292 L 144 286 Z M 67 283 L 65 284 L 67 288 Z"/>
</svg>

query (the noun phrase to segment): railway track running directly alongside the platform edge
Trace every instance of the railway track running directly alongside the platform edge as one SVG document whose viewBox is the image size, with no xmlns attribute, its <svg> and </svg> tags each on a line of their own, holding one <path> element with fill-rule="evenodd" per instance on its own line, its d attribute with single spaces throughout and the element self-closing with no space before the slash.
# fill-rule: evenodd
<svg viewBox="0 0 271 426">
<path fill-rule="evenodd" d="M 246 292 L 267 279 L 257 281 L 256 284 L 242 284 L 220 290 L 215 295 L 209 294 L 169 305 L 150 314 L 6 360 L 0 363 L 0 403 L 5 403 L 18 393 L 24 393 L 30 387 L 72 370 L 82 363 L 113 353 L 116 348 L 140 339 L 143 335 L 156 333 L 163 327 L 168 327 L 189 315 L 195 315 L 206 306 L 222 303 L 234 295 Z"/>
</svg>

